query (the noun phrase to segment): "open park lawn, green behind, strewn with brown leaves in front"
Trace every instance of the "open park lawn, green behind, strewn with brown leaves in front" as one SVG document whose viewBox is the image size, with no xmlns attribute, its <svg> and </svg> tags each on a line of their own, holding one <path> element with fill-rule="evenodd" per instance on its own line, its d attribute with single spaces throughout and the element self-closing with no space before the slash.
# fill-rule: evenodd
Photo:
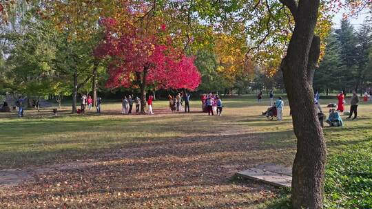
<svg viewBox="0 0 372 209">
<path fill-rule="evenodd" d="M 231 177 L 265 162 L 291 166 L 296 137 L 288 107 L 282 122 L 267 121 L 269 101 L 254 98 L 224 99 L 223 116 L 213 117 L 199 101 L 189 114 L 167 111 L 167 101 L 154 102 L 155 115 L 121 115 L 120 103 L 105 101 L 100 115 L 0 113 L 0 169 L 44 171 L 0 187 L 0 208 L 265 207 L 276 188 Z M 327 112 L 336 100 L 320 102 Z M 324 128 L 329 156 L 371 141 L 372 104 L 358 111 L 360 120 Z M 78 162 L 85 166 L 65 166 Z"/>
</svg>

